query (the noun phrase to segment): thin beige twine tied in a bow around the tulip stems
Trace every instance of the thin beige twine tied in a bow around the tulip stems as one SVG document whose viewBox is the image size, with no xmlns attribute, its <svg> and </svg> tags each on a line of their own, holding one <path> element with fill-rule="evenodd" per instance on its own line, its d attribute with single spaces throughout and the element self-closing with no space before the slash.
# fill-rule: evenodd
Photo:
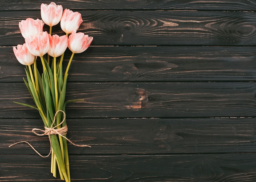
<svg viewBox="0 0 256 182">
<path fill-rule="evenodd" d="M 58 112 L 63 112 L 64 118 L 63 118 L 63 120 L 61 121 L 60 124 L 58 124 L 58 125 L 56 125 L 55 127 L 53 127 L 54 122 L 56 122 L 56 115 L 57 115 Z M 49 157 L 49 155 L 51 155 L 51 152 L 52 152 L 52 142 L 51 142 L 50 135 L 60 135 L 61 137 L 65 138 L 68 142 L 70 142 L 70 143 L 71 143 L 72 145 L 74 145 L 74 146 L 91 147 L 91 146 L 89 146 L 89 145 L 79 145 L 79 144 L 75 144 L 75 143 L 73 143 L 71 140 L 67 139 L 67 137 L 64 136 L 64 135 L 67 134 L 67 124 L 66 124 L 64 127 L 61 127 L 61 128 L 58 128 L 58 127 L 61 126 L 61 124 L 63 124 L 63 122 L 65 121 L 65 119 L 66 119 L 66 114 L 65 114 L 65 112 L 62 111 L 62 110 L 59 110 L 59 111 L 57 111 L 57 112 L 55 113 L 55 115 L 54 115 L 54 120 L 53 120 L 52 125 L 51 125 L 50 128 L 45 127 L 45 130 L 37 129 L 37 128 L 32 129 L 32 132 L 33 132 L 34 134 L 38 135 L 38 136 L 48 135 L 49 141 L 50 141 L 50 148 L 51 148 L 48 155 L 46 155 L 46 156 L 41 155 L 41 154 L 40 154 L 29 142 L 27 142 L 27 141 L 16 142 L 16 143 L 14 143 L 14 144 L 9 145 L 9 147 L 11 147 L 11 146 L 13 146 L 13 145 L 16 145 L 16 144 L 19 144 L 19 143 L 27 143 L 38 155 L 40 155 L 42 158 L 47 158 L 47 157 Z M 41 133 L 39 133 L 39 132 L 41 132 Z"/>
</svg>

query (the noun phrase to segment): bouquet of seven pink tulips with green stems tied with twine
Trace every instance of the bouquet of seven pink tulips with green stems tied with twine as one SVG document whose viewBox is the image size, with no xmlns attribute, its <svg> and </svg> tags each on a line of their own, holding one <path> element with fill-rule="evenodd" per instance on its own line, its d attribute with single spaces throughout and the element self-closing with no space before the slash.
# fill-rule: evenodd
<svg viewBox="0 0 256 182">
<path fill-rule="evenodd" d="M 67 75 L 74 54 L 88 49 L 93 38 L 82 32 L 76 32 L 83 22 L 79 12 L 70 9 L 63 11 L 63 7 L 54 2 L 49 5 L 41 4 L 40 10 L 42 20 L 27 18 L 19 23 L 25 43 L 19 44 L 17 48 L 13 47 L 17 60 L 26 65 L 27 80 L 24 78 L 23 80 L 36 106 L 16 103 L 39 111 L 45 130 L 35 129 L 35 131 L 41 132 L 38 135 L 49 136 L 51 144 L 49 155 L 52 154 L 51 172 L 56 177 L 58 168 L 60 178 L 70 182 L 67 142 L 71 141 L 66 138 L 65 107 L 67 103 L 77 100 L 65 102 Z M 59 22 L 66 35 L 52 35 L 52 27 Z M 45 24 L 49 26 L 49 33 L 43 31 Z M 72 55 L 64 72 L 63 58 L 67 47 L 72 51 Z M 43 71 L 38 69 L 38 57 Z"/>
</svg>

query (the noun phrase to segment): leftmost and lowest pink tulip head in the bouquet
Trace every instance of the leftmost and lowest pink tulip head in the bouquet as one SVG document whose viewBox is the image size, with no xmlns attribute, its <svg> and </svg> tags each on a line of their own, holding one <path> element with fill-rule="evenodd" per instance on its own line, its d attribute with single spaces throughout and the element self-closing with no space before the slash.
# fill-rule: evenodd
<svg viewBox="0 0 256 182">
<path fill-rule="evenodd" d="M 34 63 L 35 56 L 29 52 L 26 43 L 23 45 L 18 44 L 17 49 L 13 47 L 13 53 L 20 64 L 31 65 Z"/>
</svg>

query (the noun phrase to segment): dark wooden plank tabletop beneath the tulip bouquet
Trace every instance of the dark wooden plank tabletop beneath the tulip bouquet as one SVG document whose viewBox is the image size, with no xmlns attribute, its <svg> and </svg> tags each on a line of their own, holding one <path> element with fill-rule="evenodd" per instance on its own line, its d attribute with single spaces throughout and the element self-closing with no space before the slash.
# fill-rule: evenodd
<svg viewBox="0 0 256 182">
<path fill-rule="evenodd" d="M 51 1 L 0 0 L 0 182 L 52 177 L 47 137 L 12 47 Z M 67 99 L 73 181 L 255 182 L 256 0 L 58 0 L 94 37 Z M 57 33 L 58 28 L 54 29 Z M 70 53 L 67 53 L 69 58 Z"/>
</svg>

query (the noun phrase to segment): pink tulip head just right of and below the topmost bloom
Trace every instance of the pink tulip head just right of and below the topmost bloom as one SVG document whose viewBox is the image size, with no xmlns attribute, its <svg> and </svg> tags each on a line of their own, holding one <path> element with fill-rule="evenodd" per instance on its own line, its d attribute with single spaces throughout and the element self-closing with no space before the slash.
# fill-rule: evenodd
<svg viewBox="0 0 256 182">
<path fill-rule="evenodd" d="M 79 29 L 80 24 L 83 22 L 81 13 L 73 12 L 70 9 L 65 9 L 61 17 L 61 29 L 65 33 L 72 33 Z"/>
</svg>

